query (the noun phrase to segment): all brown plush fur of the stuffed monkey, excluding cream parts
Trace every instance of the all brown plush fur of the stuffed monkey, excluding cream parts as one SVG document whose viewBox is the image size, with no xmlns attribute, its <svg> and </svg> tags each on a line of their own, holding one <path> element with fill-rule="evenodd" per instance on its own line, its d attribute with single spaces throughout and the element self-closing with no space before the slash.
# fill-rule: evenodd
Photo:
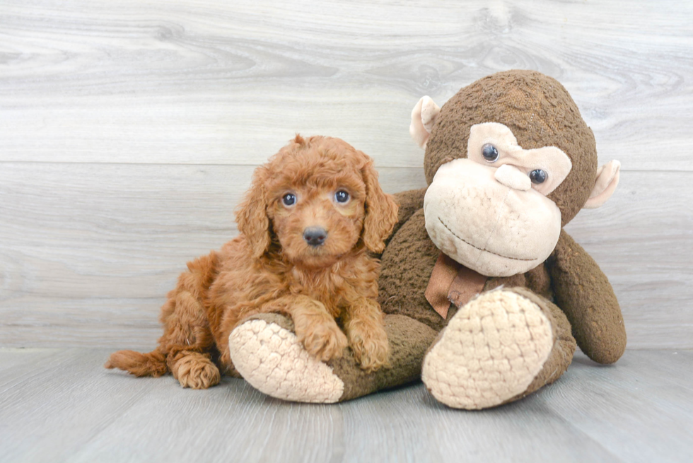
<svg viewBox="0 0 693 463">
<path fill-rule="evenodd" d="M 535 71 L 507 71 L 462 88 L 443 105 L 428 139 L 424 171 L 429 184 L 441 165 L 467 156 L 470 127 L 483 122 L 505 124 L 523 148 L 552 145 L 570 156 L 573 170 L 548 196 L 559 206 L 562 224 L 568 223 L 595 184 L 597 155 L 592 132 L 563 86 Z M 382 254 L 378 300 L 386 314 L 392 368 L 366 373 L 348 351 L 342 358 L 328 362 L 332 373 L 344 384 L 340 400 L 419 378 L 426 350 L 458 312 L 458 307 L 450 305 L 443 320 L 425 297 L 441 252 L 426 231 L 426 189 L 395 194 L 399 215 Z M 483 206 L 481 201 L 479 204 Z M 473 219 L 470 217 L 470 221 Z M 551 324 L 554 339 L 542 370 L 524 392 L 509 401 L 557 380 L 571 363 L 576 341 L 600 363 L 613 363 L 622 355 L 626 333 L 613 289 L 589 254 L 564 231 L 546 262 L 524 273 L 489 277 L 483 291 L 501 286 L 540 307 Z M 282 315 L 258 317 L 292 329 Z"/>
</svg>

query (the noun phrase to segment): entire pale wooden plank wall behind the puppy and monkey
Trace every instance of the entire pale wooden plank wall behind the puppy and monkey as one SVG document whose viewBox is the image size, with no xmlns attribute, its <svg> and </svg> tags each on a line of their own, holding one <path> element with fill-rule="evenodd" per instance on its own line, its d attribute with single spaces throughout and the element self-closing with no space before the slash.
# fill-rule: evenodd
<svg viewBox="0 0 693 463">
<path fill-rule="evenodd" d="M 0 346 L 152 347 L 163 295 L 236 233 L 253 168 L 294 133 L 422 187 L 417 100 L 536 69 L 622 161 L 568 230 L 629 346 L 693 348 L 692 20 L 655 0 L 4 0 Z"/>
</svg>

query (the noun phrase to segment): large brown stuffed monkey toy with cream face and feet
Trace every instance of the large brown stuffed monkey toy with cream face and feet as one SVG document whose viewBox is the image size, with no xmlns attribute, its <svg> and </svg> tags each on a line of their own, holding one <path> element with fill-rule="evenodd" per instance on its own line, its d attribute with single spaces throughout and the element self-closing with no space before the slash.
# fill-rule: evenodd
<svg viewBox="0 0 693 463">
<path fill-rule="evenodd" d="M 493 74 L 442 108 L 421 98 L 410 132 L 428 187 L 395 195 L 382 255 L 391 368 L 367 373 L 348 349 L 317 361 L 272 314 L 230 336 L 245 380 L 281 399 L 339 402 L 421 377 L 439 402 L 484 409 L 557 380 L 576 344 L 617 361 L 626 333 L 612 287 L 563 227 L 609 199 L 619 163 L 598 168 L 566 89 L 535 71 Z"/>
</svg>

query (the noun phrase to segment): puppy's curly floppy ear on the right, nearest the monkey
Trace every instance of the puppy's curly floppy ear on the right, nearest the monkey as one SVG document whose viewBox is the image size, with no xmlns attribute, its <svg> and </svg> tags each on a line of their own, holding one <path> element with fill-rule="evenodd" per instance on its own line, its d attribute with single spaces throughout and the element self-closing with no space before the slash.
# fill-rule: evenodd
<svg viewBox="0 0 693 463">
<path fill-rule="evenodd" d="M 385 194 L 378 182 L 378 172 L 373 168 L 373 160 L 368 158 L 361 169 L 366 183 L 366 218 L 363 221 L 363 244 L 369 251 L 380 253 L 385 249 L 392 228 L 397 223 L 397 203 L 390 194 Z"/>
</svg>

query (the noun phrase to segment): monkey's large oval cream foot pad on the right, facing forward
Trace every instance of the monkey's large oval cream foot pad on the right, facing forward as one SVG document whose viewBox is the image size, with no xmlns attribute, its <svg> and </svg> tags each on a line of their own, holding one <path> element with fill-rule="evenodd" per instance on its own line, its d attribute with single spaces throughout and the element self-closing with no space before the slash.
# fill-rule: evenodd
<svg viewBox="0 0 693 463">
<path fill-rule="evenodd" d="M 513 291 L 491 291 L 450 320 L 424 358 L 421 379 L 448 406 L 496 406 L 527 390 L 553 344 L 538 305 Z"/>
</svg>

